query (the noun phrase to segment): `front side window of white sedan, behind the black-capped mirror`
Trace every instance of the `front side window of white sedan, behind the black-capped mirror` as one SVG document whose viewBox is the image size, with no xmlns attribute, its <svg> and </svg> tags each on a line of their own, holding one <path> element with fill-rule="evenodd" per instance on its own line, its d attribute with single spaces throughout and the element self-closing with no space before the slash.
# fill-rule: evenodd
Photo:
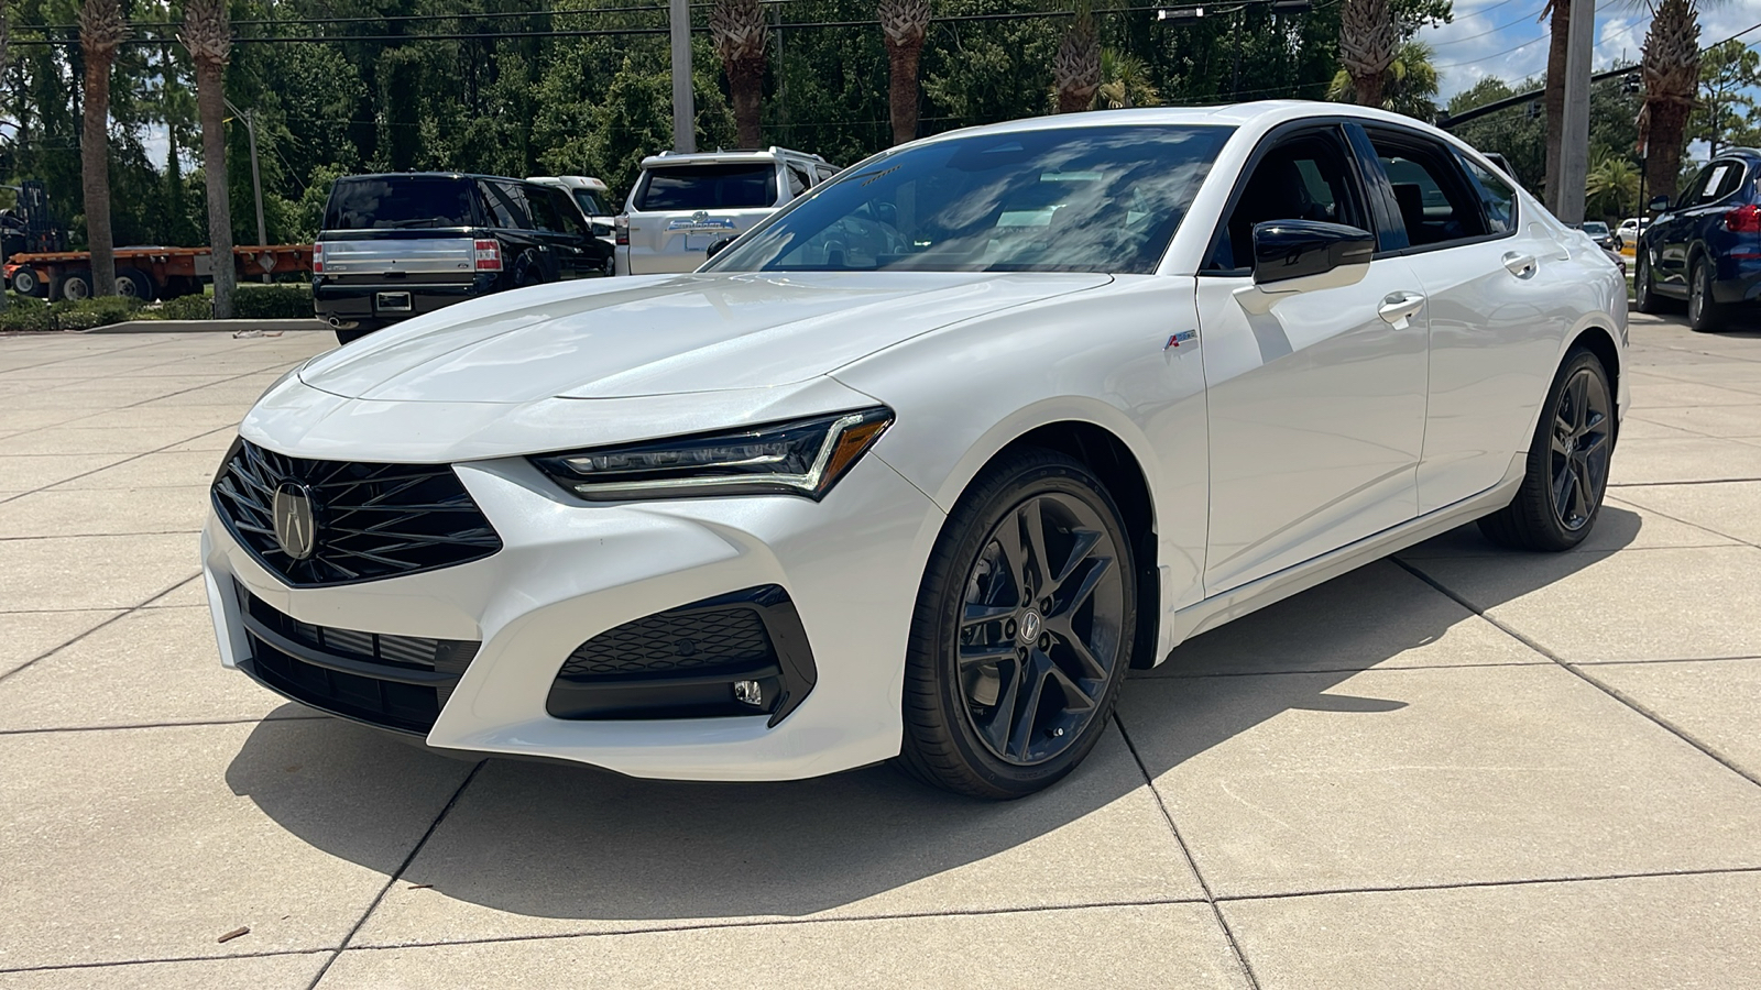
<svg viewBox="0 0 1761 990">
<path fill-rule="evenodd" d="M 1254 264 L 1254 224 L 1324 220 L 1374 231 L 1358 176 L 1340 137 L 1310 132 L 1273 146 L 1254 166 L 1234 211 L 1217 233 L 1206 271 L 1240 271 Z"/>
</svg>

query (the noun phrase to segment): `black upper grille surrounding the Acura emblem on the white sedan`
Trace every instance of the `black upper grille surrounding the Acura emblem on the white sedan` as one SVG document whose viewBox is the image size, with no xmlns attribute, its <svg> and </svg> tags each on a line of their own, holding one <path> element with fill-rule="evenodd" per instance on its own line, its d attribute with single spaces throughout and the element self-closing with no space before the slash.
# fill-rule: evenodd
<svg viewBox="0 0 1761 990">
<path fill-rule="evenodd" d="M 275 490 L 284 481 L 312 490 L 317 548 L 305 560 L 275 537 Z M 239 439 L 215 477 L 213 502 L 239 544 L 294 587 L 435 571 L 502 548 L 449 465 L 303 460 Z"/>
</svg>

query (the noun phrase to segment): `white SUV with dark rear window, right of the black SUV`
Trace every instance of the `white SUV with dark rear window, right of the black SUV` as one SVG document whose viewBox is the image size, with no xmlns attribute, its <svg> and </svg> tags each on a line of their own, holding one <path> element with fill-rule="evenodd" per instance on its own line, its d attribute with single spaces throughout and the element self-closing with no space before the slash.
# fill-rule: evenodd
<svg viewBox="0 0 1761 990">
<path fill-rule="evenodd" d="M 618 275 L 694 271 L 711 243 L 752 229 L 836 171 L 819 155 L 775 146 L 650 155 L 616 220 Z"/>
</svg>

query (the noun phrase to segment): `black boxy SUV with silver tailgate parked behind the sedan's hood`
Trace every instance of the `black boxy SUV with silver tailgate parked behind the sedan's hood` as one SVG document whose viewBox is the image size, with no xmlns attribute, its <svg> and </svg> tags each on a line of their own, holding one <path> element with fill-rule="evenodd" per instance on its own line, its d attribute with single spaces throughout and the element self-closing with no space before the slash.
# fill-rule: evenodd
<svg viewBox="0 0 1761 990">
<path fill-rule="evenodd" d="M 312 248 L 312 299 L 349 344 L 461 299 L 611 266 L 613 247 L 560 188 L 458 173 L 347 176 Z"/>
</svg>

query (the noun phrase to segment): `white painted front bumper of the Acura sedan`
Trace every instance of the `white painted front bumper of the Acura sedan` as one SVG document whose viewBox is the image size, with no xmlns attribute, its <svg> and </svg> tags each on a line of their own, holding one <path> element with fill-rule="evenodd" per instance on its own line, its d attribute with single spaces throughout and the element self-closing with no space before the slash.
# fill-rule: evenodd
<svg viewBox="0 0 1761 990">
<path fill-rule="evenodd" d="M 426 735 L 433 747 L 694 780 L 814 777 L 898 754 L 905 639 L 942 514 L 880 458 L 863 458 L 822 502 L 585 506 L 523 458 L 454 470 L 504 548 L 380 581 L 291 588 L 210 513 L 203 571 L 222 662 L 250 657 L 234 594 L 243 587 L 313 625 L 481 641 Z M 548 713 L 556 673 L 583 641 L 755 585 L 789 594 L 817 664 L 812 691 L 778 724 Z"/>
</svg>

